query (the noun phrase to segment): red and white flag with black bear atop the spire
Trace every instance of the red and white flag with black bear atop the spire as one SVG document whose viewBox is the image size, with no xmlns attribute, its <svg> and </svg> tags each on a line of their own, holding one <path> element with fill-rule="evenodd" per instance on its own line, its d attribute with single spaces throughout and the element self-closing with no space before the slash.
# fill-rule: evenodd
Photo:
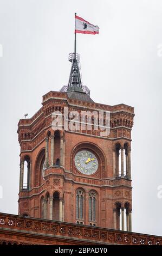
<svg viewBox="0 0 162 256">
<path fill-rule="evenodd" d="M 79 16 L 75 16 L 75 33 L 99 34 L 99 27 L 90 24 Z"/>
</svg>

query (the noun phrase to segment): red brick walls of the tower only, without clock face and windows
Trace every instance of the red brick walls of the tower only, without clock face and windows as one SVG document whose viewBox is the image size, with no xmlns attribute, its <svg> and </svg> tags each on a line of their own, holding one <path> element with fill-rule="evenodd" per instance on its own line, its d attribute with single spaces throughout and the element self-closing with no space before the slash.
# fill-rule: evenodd
<svg viewBox="0 0 162 256">
<path fill-rule="evenodd" d="M 129 166 L 133 107 L 124 104 L 108 106 L 70 99 L 67 93 L 61 92 L 44 95 L 42 105 L 34 117 L 21 119 L 18 123 L 18 140 L 21 146 L 18 214 L 71 223 L 81 221 L 85 225 L 119 229 L 120 209 L 126 209 L 130 222 L 132 186 Z M 54 131 L 51 127 L 52 113 L 60 111 L 63 114 L 64 107 L 79 113 L 87 110 L 109 111 L 109 136 L 100 137 L 99 131 L 95 130 Z M 92 119 L 92 124 L 93 121 Z M 116 166 L 116 162 L 119 162 L 117 151 L 124 150 L 125 147 L 129 162 L 126 163 L 127 173 L 122 175 L 118 172 L 119 163 Z M 92 151 L 98 159 L 99 168 L 92 175 L 82 174 L 75 167 L 74 156 L 82 149 Z M 56 164 L 57 160 L 59 164 Z M 26 187 L 23 185 L 24 161 L 28 164 Z M 44 163 L 46 168 L 43 179 Z M 83 191 L 82 220 L 76 218 L 76 191 L 79 188 Z M 94 191 L 96 195 L 96 219 L 93 222 L 89 220 L 90 191 Z M 129 226 L 127 230 L 131 231 L 131 223 Z"/>
</svg>

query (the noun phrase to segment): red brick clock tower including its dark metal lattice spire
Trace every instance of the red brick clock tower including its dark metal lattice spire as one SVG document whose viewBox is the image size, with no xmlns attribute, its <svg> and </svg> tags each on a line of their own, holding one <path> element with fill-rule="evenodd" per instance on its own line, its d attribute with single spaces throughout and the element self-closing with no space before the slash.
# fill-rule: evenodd
<svg viewBox="0 0 162 256">
<path fill-rule="evenodd" d="M 69 61 L 68 85 L 44 95 L 36 114 L 18 123 L 18 214 L 132 231 L 134 108 L 94 102 L 80 55 L 70 53 Z"/>
</svg>

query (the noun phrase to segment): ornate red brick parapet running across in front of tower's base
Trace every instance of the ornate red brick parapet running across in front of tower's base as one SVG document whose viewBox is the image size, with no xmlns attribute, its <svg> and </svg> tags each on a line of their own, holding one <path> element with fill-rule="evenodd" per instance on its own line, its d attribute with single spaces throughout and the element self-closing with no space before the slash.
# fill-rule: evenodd
<svg viewBox="0 0 162 256">
<path fill-rule="evenodd" d="M 42 245 L 54 245 L 58 241 L 68 242 L 69 245 L 162 245 L 161 236 L 3 213 L 0 213 L 0 233 L 0 243 L 3 239 L 14 241 L 16 235 L 18 243 L 27 240 L 28 243 L 35 241 Z"/>
</svg>

